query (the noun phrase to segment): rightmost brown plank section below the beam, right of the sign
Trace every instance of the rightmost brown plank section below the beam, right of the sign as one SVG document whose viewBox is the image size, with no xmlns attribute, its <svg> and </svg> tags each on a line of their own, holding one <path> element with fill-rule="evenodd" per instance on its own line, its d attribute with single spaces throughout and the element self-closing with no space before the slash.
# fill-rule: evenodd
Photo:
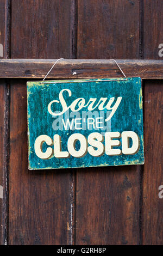
<svg viewBox="0 0 163 256">
<path fill-rule="evenodd" d="M 159 186 L 162 172 L 162 102 L 163 82 L 145 83 L 145 166 L 143 175 L 143 245 L 163 243 L 163 199 Z"/>
</svg>

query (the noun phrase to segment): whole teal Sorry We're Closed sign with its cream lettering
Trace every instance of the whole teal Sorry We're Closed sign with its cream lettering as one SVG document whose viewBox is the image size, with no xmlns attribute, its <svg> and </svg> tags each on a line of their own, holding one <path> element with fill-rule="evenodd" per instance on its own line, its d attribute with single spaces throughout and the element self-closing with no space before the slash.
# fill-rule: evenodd
<svg viewBox="0 0 163 256">
<path fill-rule="evenodd" d="M 143 164 L 141 78 L 27 82 L 29 169 Z"/>
</svg>

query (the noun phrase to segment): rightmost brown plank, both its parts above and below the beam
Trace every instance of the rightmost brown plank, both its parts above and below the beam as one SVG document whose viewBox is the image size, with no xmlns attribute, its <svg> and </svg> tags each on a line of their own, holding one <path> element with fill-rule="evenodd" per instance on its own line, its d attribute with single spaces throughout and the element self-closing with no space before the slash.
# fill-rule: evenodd
<svg viewBox="0 0 163 256">
<path fill-rule="evenodd" d="M 161 50 L 159 45 L 163 44 L 162 8 L 162 1 L 143 1 L 143 56 L 145 59 L 163 58 L 159 56 Z M 144 245 L 161 245 L 163 242 L 163 204 L 158 196 L 158 188 L 162 185 L 163 178 L 161 169 L 162 90 L 162 82 L 146 81 L 145 83 L 145 166 L 142 198 L 142 243 Z"/>
</svg>

